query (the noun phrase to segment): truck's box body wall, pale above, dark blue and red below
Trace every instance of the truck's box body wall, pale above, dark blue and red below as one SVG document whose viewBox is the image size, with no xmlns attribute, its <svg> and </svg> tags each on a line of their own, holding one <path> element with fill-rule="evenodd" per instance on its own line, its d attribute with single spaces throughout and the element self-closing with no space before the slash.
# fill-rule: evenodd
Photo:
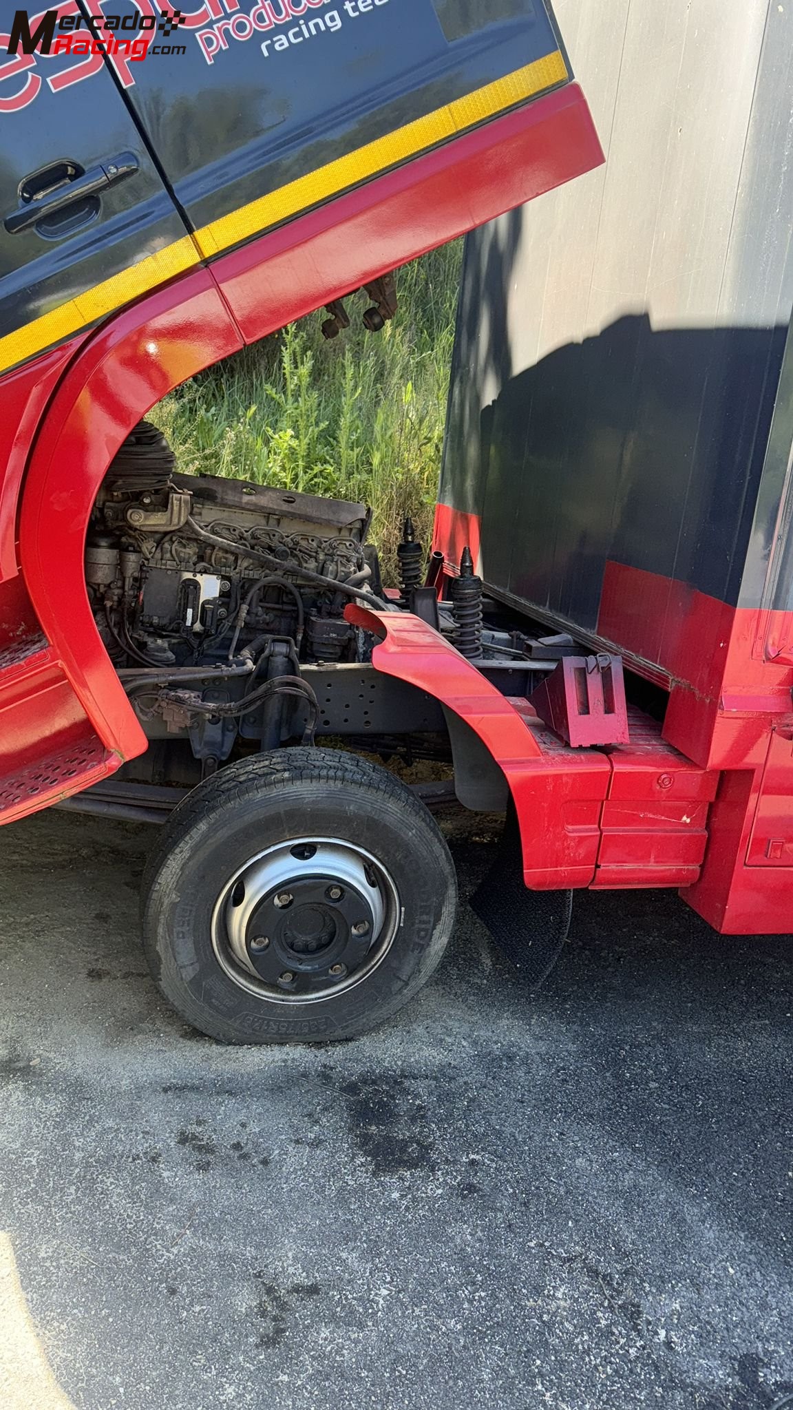
<svg viewBox="0 0 793 1410">
<path fill-rule="evenodd" d="M 440 499 L 504 601 L 693 682 L 718 605 L 787 605 L 793 25 L 560 16 L 607 166 L 468 238 Z"/>
</svg>

